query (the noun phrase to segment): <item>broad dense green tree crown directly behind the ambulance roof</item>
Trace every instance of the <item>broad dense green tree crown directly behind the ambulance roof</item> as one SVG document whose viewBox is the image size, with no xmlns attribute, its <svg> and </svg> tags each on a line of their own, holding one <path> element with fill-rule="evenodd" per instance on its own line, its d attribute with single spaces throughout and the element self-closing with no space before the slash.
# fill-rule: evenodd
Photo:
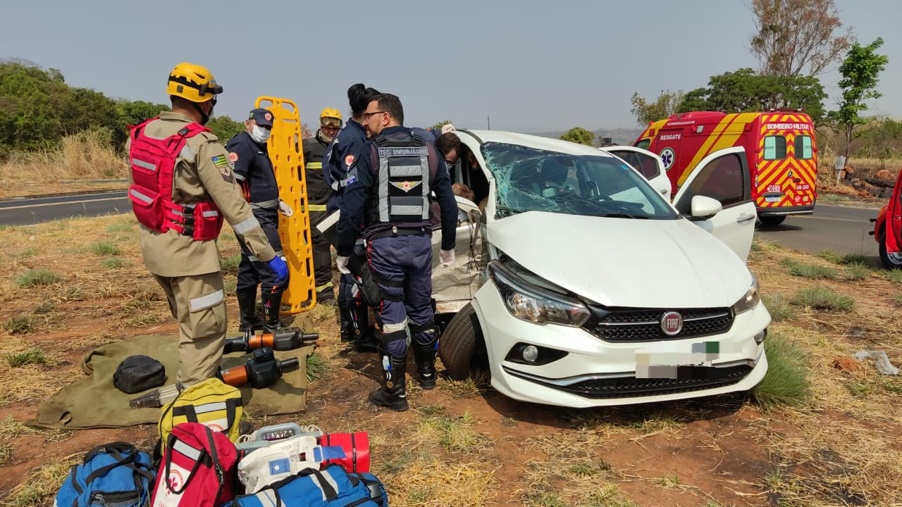
<svg viewBox="0 0 902 507">
<path fill-rule="evenodd" d="M 772 107 L 804 108 L 812 120 L 824 119 L 824 87 L 814 76 L 775 76 L 753 69 L 724 72 L 708 80 L 708 88 L 686 93 L 677 112 L 747 113 Z"/>
</svg>

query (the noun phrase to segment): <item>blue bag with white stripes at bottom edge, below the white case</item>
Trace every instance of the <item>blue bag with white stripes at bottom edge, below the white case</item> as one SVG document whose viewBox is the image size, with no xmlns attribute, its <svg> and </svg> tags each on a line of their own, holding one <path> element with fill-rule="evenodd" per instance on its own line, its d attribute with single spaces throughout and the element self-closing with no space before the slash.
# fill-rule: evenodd
<svg viewBox="0 0 902 507">
<path fill-rule="evenodd" d="M 350 474 L 340 465 L 305 468 L 254 494 L 235 497 L 232 507 L 389 507 L 388 493 L 372 474 Z"/>
</svg>

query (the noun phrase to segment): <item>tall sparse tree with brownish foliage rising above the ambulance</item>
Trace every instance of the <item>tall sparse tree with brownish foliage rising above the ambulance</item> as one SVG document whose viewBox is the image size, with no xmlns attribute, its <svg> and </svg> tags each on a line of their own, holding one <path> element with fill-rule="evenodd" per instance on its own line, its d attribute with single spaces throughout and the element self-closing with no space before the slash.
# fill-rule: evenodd
<svg viewBox="0 0 902 507">
<path fill-rule="evenodd" d="M 852 41 L 851 30 L 838 33 L 842 20 L 833 0 L 752 0 L 750 10 L 757 29 L 751 53 L 761 74 L 816 76 Z"/>
</svg>

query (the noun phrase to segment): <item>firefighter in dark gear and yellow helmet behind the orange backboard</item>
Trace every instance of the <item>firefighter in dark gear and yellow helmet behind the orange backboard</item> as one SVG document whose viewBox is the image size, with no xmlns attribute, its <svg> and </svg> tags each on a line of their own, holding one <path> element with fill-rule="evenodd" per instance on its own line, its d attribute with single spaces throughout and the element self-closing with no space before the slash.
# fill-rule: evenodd
<svg viewBox="0 0 902 507">
<path fill-rule="evenodd" d="M 317 134 L 304 140 L 304 174 L 307 177 L 307 198 L 310 210 L 310 235 L 313 243 L 313 269 L 317 283 L 317 301 L 335 304 L 335 290 L 332 286 L 332 254 L 329 241 L 320 234 L 316 226 L 326 217 L 326 203 L 332 189 L 323 174 L 323 156 L 332 139 L 341 130 L 342 117 L 337 109 L 327 107 L 319 114 Z M 342 320 L 344 322 L 345 319 Z M 350 321 L 349 321 L 350 322 Z M 344 331 L 344 328 L 343 328 Z M 345 341 L 350 341 L 350 327 L 342 333 Z M 345 336 L 346 335 L 346 336 Z"/>
</svg>

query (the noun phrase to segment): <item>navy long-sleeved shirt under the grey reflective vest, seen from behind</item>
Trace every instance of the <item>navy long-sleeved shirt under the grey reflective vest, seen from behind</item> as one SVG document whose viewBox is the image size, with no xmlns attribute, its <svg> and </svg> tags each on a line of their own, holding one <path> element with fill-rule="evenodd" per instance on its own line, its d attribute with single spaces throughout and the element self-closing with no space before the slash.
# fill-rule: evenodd
<svg viewBox="0 0 902 507">
<path fill-rule="evenodd" d="M 380 135 L 410 134 L 410 129 L 402 126 L 387 127 Z M 440 159 L 438 151 L 432 143 L 429 147 L 429 189 L 436 193 L 442 217 L 442 250 L 454 250 L 457 227 L 457 201 L 451 189 L 451 178 L 448 176 L 445 161 Z M 338 237 L 336 250 L 339 255 L 350 255 L 354 242 L 360 235 L 364 217 L 372 207 L 373 199 L 378 199 L 376 182 L 379 180 L 379 157 L 376 154 L 376 143 L 364 144 L 354 157 L 354 165 L 347 178 L 347 187 L 342 198 L 341 218 L 338 220 Z M 423 223 L 431 230 L 428 219 Z"/>
</svg>

